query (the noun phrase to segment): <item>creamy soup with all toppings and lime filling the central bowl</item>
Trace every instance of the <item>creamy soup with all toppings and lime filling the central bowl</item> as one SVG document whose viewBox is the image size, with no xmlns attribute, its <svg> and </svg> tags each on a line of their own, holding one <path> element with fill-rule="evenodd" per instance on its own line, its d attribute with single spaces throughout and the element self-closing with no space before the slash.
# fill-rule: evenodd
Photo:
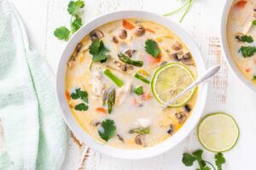
<svg viewBox="0 0 256 170">
<path fill-rule="evenodd" d="M 188 120 L 196 89 L 169 99 L 197 77 L 186 45 L 152 21 L 115 20 L 91 31 L 67 63 L 66 98 L 96 142 L 142 149 L 172 138 Z"/>
</svg>

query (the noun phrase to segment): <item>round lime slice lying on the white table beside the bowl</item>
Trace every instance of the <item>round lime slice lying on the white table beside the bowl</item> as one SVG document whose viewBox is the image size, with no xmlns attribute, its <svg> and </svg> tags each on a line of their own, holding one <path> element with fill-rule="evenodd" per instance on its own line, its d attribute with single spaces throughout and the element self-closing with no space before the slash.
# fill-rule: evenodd
<svg viewBox="0 0 256 170">
<path fill-rule="evenodd" d="M 212 113 L 201 120 L 197 135 L 207 150 L 224 152 L 236 145 L 239 128 L 232 116 L 221 112 Z"/>
</svg>

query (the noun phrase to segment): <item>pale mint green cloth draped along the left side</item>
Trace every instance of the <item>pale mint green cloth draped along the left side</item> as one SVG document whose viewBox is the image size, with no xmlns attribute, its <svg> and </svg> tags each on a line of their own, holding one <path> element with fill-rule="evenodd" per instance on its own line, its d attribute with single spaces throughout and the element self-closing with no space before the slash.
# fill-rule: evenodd
<svg viewBox="0 0 256 170">
<path fill-rule="evenodd" d="M 45 60 L 31 50 L 19 15 L 0 0 L 0 119 L 6 149 L 0 150 L 0 169 L 61 168 L 67 127 L 54 81 Z"/>
</svg>

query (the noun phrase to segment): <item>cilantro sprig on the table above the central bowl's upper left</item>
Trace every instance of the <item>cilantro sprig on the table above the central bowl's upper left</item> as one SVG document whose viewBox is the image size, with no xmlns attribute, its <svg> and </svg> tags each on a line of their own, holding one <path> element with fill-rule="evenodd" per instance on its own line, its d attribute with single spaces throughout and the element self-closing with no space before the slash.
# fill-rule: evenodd
<svg viewBox="0 0 256 170">
<path fill-rule="evenodd" d="M 67 6 L 68 14 L 71 14 L 70 20 L 70 30 L 66 26 L 61 26 L 56 28 L 54 31 L 55 37 L 60 40 L 67 41 L 69 37 L 83 25 L 83 21 L 79 16 L 80 9 L 84 8 L 84 1 L 77 0 L 77 1 L 70 1 Z"/>
</svg>

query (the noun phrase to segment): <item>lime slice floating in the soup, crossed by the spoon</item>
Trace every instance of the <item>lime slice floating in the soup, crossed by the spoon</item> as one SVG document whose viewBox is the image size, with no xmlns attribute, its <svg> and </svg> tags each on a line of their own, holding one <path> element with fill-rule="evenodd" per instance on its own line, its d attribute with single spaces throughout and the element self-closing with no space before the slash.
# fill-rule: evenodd
<svg viewBox="0 0 256 170">
<path fill-rule="evenodd" d="M 178 63 L 169 63 L 160 66 L 160 68 L 154 72 L 154 77 L 151 81 L 151 89 L 154 98 L 157 99 L 161 105 L 164 105 L 167 101 L 177 96 L 177 94 L 180 94 L 194 81 L 194 77 L 188 67 Z M 180 107 L 185 105 L 189 99 L 191 99 L 194 92 L 195 89 L 190 90 L 169 106 Z"/>
</svg>

